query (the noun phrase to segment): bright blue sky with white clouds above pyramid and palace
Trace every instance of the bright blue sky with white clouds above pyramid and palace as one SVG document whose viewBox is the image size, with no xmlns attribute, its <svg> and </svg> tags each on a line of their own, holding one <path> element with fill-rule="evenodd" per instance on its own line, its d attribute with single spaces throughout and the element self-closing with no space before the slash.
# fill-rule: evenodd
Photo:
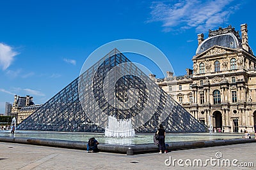
<svg viewBox="0 0 256 170">
<path fill-rule="evenodd" d="M 256 48 L 256 1 L 1 1 L 0 113 L 13 96 L 45 103 L 79 76 L 86 57 L 117 39 L 159 48 L 186 74 L 197 34 L 248 24 Z M 129 58 L 129 56 L 127 56 Z M 92 63 L 93 64 L 93 63 Z"/>
</svg>

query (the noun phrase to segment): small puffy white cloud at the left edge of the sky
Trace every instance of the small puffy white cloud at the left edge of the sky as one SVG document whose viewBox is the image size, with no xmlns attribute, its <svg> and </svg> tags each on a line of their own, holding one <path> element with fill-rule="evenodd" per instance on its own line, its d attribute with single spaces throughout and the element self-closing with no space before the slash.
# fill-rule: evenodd
<svg viewBox="0 0 256 170">
<path fill-rule="evenodd" d="M 13 57 L 19 53 L 14 52 L 11 46 L 0 43 L 0 67 L 7 69 L 13 62 Z"/>
</svg>

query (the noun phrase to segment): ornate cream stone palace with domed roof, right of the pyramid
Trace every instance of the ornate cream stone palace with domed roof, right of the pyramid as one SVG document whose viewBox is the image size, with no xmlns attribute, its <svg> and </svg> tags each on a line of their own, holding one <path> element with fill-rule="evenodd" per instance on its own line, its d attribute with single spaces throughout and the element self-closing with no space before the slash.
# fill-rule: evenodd
<svg viewBox="0 0 256 170">
<path fill-rule="evenodd" d="M 256 122 L 256 57 L 248 45 L 247 25 L 229 25 L 198 34 L 193 70 L 184 76 L 150 78 L 208 127 L 225 132 L 253 131 Z"/>
</svg>

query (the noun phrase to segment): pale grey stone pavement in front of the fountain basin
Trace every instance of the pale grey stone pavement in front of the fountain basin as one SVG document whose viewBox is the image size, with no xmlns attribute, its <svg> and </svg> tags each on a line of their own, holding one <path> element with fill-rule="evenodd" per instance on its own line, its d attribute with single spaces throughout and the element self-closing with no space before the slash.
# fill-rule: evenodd
<svg viewBox="0 0 256 170">
<path fill-rule="evenodd" d="M 218 153 L 217 153 L 218 152 Z M 217 153 L 217 154 L 216 154 Z M 221 157 L 222 155 L 222 157 Z M 169 164 L 170 157 L 175 166 Z M 218 157 L 219 159 L 217 159 Z M 207 160 L 209 159 L 209 160 Z M 236 161 L 237 159 L 237 161 Z M 202 166 L 200 166 L 202 160 Z M 227 160 L 230 161 L 230 167 Z M 183 161 L 183 162 L 182 162 Z M 190 164 L 191 167 L 186 166 Z M 195 162 L 195 166 L 193 166 Z M 205 163 L 206 162 L 206 163 Z M 218 166 L 220 162 L 220 166 Z M 221 166 L 223 162 L 224 166 Z M 232 165 L 232 162 L 234 165 Z M 253 163 L 253 167 L 252 167 Z M 204 166 L 204 164 L 206 166 Z M 198 166 L 199 165 L 199 166 Z M 214 166 L 215 165 L 215 166 Z M 251 167 L 241 167 L 241 165 Z M 256 169 L 256 143 L 127 156 L 0 142 L 0 169 Z"/>
</svg>

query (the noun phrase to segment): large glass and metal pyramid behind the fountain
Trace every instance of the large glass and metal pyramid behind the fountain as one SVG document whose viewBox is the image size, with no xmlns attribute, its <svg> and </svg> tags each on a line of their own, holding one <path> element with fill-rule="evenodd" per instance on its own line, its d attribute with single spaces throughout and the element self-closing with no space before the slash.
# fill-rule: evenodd
<svg viewBox="0 0 256 170">
<path fill-rule="evenodd" d="M 120 109 L 109 104 L 103 89 L 106 76 L 113 67 L 127 63 L 125 75 L 115 83 L 115 97 L 125 104 L 136 97 L 136 104 Z M 120 67 L 122 71 L 122 67 Z M 135 75 L 135 76 L 134 76 Z M 153 88 L 148 89 L 145 83 Z M 129 90 L 129 89 L 136 90 Z M 135 92 L 136 91 L 136 92 Z M 156 91 L 156 92 L 155 92 Z M 159 96 L 154 97 L 159 91 Z M 108 93 L 108 92 L 107 92 Z M 110 93 L 110 92 L 109 92 Z M 149 99 L 149 97 L 151 99 Z M 154 98 L 159 100 L 154 101 Z M 153 99 L 153 100 L 152 100 Z M 92 102 L 96 103 L 93 105 Z M 143 114 L 141 114 L 143 111 Z M 104 132 L 108 117 L 131 119 L 136 132 L 156 132 L 163 124 L 166 132 L 205 132 L 207 128 L 166 92 L 160 89 L 145 73 L 114 49 L 84 71 L 76 80 L 38 108 L 17 129 L 29 131 Z M 136 117 L 136 119 L 134 118 Z M 146 117 L 146 118 L 145 118 Z"/>
</svg>

